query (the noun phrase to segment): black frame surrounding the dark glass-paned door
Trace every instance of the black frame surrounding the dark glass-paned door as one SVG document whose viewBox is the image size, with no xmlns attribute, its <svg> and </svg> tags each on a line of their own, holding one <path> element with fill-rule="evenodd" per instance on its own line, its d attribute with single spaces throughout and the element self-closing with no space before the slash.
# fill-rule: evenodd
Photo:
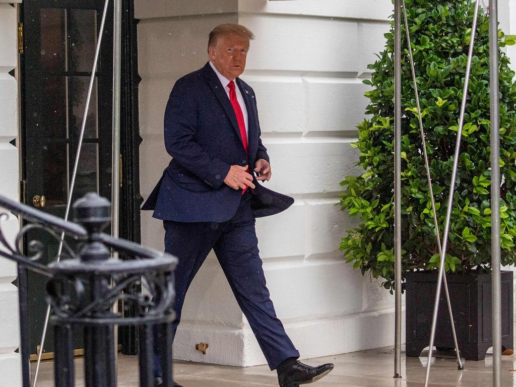
<svg viewBox="0 0 516 387">
<path fill-rule="evenodd" d="M 71 0 L 74 2 L 76 0 Z M 112 6 L 110 2 L 110 6 Z M 23 26 L 24 4 L 16 4 L 18 10 L 18 26 Z M 119 237 L 136 243 L 141 242 L 140 207 L 143 198 L 140 194 L 139 146 L 142 141 L 139 134 L 138 87 L 141 78 L 138 74 L 138 42 L 137 24 L 134 18 L 134 0 L 122 0 L 122 61 L 121 85 L 122 98 L 120 106 L 120 198 L 119 198 Z M 23 28 L 23 27 L 22 27 Z M 20 36 L 20 38 L 22 38 Z M 22 44 L 22 43 L 20 43 Z M 23 45 L 22 45 L 23 46 Z M 25 149 L 25 56 L 19 53 L 16 69 L 18 81 L 19 136 L 16 140 L 19 148 L 19 182 L 20 202 L 26 203 L 24 182 L 26 181 L 26 149 Z M 108 198 L 111 200 L 111 198 Z M 22 225 L 22 220 L 20 221 Z M 27 240 L 23 240 L 23 251 L 27 251 Z M 122 257 L 123 258 L 123 257 Z M 131 316 L 135 311 L 124 312 Z M 124 354 L 138 353 L 138 330 L 136 327 L 120 327 L 119 343 Z M 120 347 L 120 345 L 119 345 Z"/>
</svg>

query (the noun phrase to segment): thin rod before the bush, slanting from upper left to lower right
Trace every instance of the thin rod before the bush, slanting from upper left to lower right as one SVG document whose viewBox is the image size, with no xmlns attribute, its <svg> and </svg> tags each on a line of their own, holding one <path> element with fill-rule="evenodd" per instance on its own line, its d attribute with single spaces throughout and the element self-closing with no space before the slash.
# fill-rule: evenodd
<svg viewBox="0 0 516 387">
<path fill-rule="evenodd" d="M 405 19 L 405 31 L 407 33 L 407 43 L 408 43 L 408 47 L 409 47 L 410 67 L 412 69 L 412 82 L 414 83 L 414 94 L 415 94 L 417 114 L 418 114 L 418 119 L 419 119 L 419 124 L 420 124 L 421 142 L 422 142 L 422 146 L 423 146 L 423 155 L 425 158 L 426 175 L 427 175 L 427 179 L 428 179 L 428 189 L 429 189 L 429 194 L 430 194 L 430 202 L 432 204 L 433 225 L 436 228 L 437 247 L 439 248 L 439 254 L 441 254 L 442 253 L 441 234 L 439 232 L 439 222 L 437 220 L 436 201 L 433 196 L 432 176 L 430 174 L 430 163 L 428 162 L 428 154 L 426 151 L 425 129 L 423 127 L 421 104 L 420 104 L 420 99 L 419 99 L 419 92 L 417 90 L 416 70 L 415 70 L 415 66 L 414 66 L 414 57 L 412 55 L 409 21 L 407 18 L 407 7 L 405 5 L 405 0 L 403 0 L 403 15 L 404 15 L 404 19 Z M 450 301 L 450 295 L 449 295 L 449 291 L 448 291 L 448 282 L 446 281 L 446 273 L 444 271 L 443 271 L 443 282 L 444 282 L 444 291 L 446 293 L 446 302 L 448 303 L 448 312 L 450 315 L 451 333 L 453 334 L 453 340 L 455 343 L 455 351 L 457 353 L 457 366 L 459 369 L 464 369 L 464 367 L 462 366 L 462 362 L 460 360 L 459 344 L 457 342 L 457 333 L 455 331 L 455 322 L 454 322 L 454 318 L 453 318 L 453 311 L 451 310 L 451 301 Z"/>
</svg>

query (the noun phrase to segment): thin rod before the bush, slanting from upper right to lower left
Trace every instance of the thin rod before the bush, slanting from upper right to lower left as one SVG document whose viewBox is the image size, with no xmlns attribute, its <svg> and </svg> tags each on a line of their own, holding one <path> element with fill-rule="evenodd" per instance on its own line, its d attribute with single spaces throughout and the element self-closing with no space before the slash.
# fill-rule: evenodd
<svg viewBox="0 0 516 387">
<path fill-rule="evenodd" d="M 444 277 L 443 275 L 444 275 L 444 265 L 445 265 L 445 259 L 446 259 L 446 248 L 448 246 L 448 234 L 449 234 L 449 229 L 450 229 L 451 209 L 453 207 L 453 197 L 454 197 L 454 192 L 455 192 L 455 181 L 457 179 L 457 167 L 459 165 L 460 143 L 461 143 L 461 139 L 462 139 L 462 127 L 464 126 L 464 115 L 466 112 L 467 91 L 470 86 L 471 62 L 473 59 L 473 50 L 474 50 L 474 45 L 475 45 L 475 34 L 476 34 L 476 30 L 477 30 L 479 3 L 480 3 L 480 0 L 476 0 L 475 13 L 473 16 L 473 27 L 471 29 L 470 49 L 469 49 L 469 52 L 467 55 L 466 74 L 465 74 L 465 78 L 464 78 L 464 89 L 462 90 L 462 104 L 461 104 L 461 108 L 460 108 L 459 129 L 457 131 L 457 143 L 455 146 L 453 170 L 451 171 L 448 207 L 446 208 L 446 222 L 444 224 L 441 261 L 440 261 L 440 267 L 439 267 L 439 277 L 437 278 L 436 301 L 435 301 L 434 307 L 433 307 L 432 330 L 430 333 L 430 343 L 429 343 L 429 348 L 428 348 L 428 364 L 426 366 L 425 387 L 428 387 L 428 379 L 430 378 L 430 363 L 432 360 L 433 341 L 434 341 L 434 338 L 436 337 L 437 315 L 439 312 L 439 300 L 441 298 L 441 287 L 443 284 L 442 280 Z"/>
</svg>

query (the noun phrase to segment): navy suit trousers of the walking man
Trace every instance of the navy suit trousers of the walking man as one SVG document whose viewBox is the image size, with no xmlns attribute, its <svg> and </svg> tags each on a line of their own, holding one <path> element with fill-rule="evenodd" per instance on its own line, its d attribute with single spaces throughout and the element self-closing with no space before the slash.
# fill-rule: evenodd
<svg viewBox="0 0 516 387">
<path fill-rule="evenodd" d="M 208 253 L 213 249 L 236 301 L 262 349 L 270 369 L 288 358 L 299 358 L 299 352 L 276 317 L 267 289 L 251 209 L 251 193 L 245 192 L 232 219 L 223 223 L 183 223 L 164 221 L 165 251 L 175 255 L 176 319 L 172 337 L 181 320 L 186 292 Z M 220 300 L 224 302 L 224 300 Z M 173 340 L 173 339 L 172 339 Z M 155 346 L 163 345 L 159 337 Z M 160 361 L 155 357 L 155 370 Z M 158 374 L 158 373 L 157 373 Z"/>
</svg>

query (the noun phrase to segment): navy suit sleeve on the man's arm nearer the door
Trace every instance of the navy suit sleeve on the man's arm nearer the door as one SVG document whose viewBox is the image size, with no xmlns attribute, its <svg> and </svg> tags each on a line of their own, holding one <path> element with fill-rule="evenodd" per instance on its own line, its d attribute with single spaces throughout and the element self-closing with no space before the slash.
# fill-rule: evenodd
<svg viewBox="0 0 516 387">
<path fill-rule="evenodd" d="M 218 189 L 231 166 L 207 153 L 196 141 L 197 106 L 191 83 L 179 79 L 172 88 L 165 109 L 165 148 L 181 166 L 204 183 Z"/>
</svg>

